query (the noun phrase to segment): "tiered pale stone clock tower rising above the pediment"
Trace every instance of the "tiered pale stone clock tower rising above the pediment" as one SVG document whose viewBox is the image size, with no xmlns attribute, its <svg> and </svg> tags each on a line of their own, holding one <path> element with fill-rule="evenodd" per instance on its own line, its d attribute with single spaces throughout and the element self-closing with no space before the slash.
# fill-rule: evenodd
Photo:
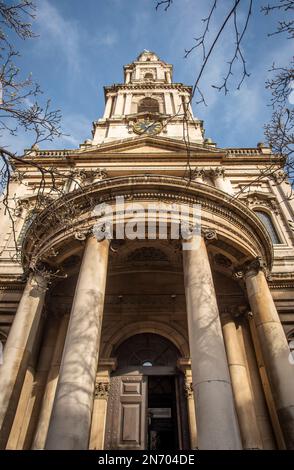
<svg viewBox="0 0 294 470">
<path fill-rule="evenodd" d="M 125 65 L 124 83 L 104 87 L 104 94 L 103 117 L 93 124 L 93 145 L 138 135 L 203 143 L 202 121 L 190 104 L 192 87 L 174 83 L 172 65 L 154 52 L 144 50 Z"/>
</svg>

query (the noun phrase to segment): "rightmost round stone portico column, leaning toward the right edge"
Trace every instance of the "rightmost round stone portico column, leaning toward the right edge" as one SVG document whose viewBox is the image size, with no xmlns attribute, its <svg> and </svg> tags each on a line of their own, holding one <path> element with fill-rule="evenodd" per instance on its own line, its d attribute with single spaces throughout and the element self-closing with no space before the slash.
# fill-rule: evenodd
<svg viewBox="0 0 294 470">
<path fill-rule="evenodd" d="M 294 367 L 262 263 L 247 266 L 246 287 L 260 347 L 287 449 L 294 449 Z"/>
</svg>

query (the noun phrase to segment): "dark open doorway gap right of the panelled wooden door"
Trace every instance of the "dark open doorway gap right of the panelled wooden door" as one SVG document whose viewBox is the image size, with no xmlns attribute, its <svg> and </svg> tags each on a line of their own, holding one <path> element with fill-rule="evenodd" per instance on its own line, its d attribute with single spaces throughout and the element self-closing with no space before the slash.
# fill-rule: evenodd
<svg viewBox="0 0 294 470">
<path fill-rule="evenodd" d="M 148 450 L 179 448 L 174 376 L 148 377 Z"/>
</svg>

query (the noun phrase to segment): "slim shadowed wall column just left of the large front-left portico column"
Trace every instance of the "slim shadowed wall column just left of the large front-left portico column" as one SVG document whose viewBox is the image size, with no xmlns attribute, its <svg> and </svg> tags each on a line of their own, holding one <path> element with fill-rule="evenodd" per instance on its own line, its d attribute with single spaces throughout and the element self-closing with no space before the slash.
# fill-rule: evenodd
<svg viewBox="0 0 294 470">
<path fill-rule="evenodd" d="M 45 447 L 45 441 L 57 387 L 65 336 L 68 327 L 68 320 L 69 315 L 64 315 L 60 322 L 51 366 L 47 376 L 47 382 L 43 396 L 41 411 L 39 414 L 39 420 L 36 428 L 36 434 L 32 444 L 32 449 L 34 450 L 41 450 Z"/>
</svg>

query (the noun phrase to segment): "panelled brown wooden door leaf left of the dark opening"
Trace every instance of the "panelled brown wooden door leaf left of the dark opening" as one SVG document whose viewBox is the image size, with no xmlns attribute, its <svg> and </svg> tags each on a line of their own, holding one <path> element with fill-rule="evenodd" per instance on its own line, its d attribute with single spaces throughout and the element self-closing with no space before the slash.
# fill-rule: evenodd
<svg viewBox="0 0 294 470">
<path fill-rule="evenodd" d="M 144 450 L 147 439 L 147 377 L 111 378 L 105 448 Z"/>
</svg>

